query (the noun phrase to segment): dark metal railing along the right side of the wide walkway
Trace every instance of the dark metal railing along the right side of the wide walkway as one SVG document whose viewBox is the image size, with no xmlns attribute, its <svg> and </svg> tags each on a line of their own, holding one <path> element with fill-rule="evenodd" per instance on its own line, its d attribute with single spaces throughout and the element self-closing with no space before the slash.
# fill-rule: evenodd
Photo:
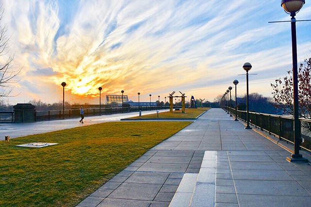
<svg viewBox="0 0 311 207">
<path fill-rule="evenodd" d="M 233 115 L 235 109 L 230 107 L 223 107 L 228 109 Z M 237 110 L 237 117 L 246 121 L 246 111 Z M 304 142 L 300 143 L 300 147 L 311 152 L 311 120 L 299 119 L 301 126 L 301 138 Z M 272 114 L 263 114 L 256 112 L 249 112 L 249 122 L 262 131 L 268 132 L 270 135 L 277 136 L 280 140 L 284 139 L 294 143 L 294 118 L 288 116 L 278 116 Z"/>
</svg>

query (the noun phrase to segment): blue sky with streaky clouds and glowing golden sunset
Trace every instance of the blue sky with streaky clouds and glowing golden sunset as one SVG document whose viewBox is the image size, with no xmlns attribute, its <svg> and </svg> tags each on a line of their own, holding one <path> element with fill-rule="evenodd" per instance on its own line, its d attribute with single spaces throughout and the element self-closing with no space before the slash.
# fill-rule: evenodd
<svg viewBox="0 0 311 207">
<path fill-rule="evenodd" d="M 164 100 L 174 91 L 213 101 L 234 79 L 271 97 L 292 68 L 290 20 L 280 0 L 0 0 L 22 68 L 10 104 L 98 102 L 106 94 Z M 307 1 L 296 16 L 311 19 Z M 311 22 L 297 22 L 298 62 L 311 57 Z M 3 61 L 3 57 L 0 58 Z"/>
</svg>

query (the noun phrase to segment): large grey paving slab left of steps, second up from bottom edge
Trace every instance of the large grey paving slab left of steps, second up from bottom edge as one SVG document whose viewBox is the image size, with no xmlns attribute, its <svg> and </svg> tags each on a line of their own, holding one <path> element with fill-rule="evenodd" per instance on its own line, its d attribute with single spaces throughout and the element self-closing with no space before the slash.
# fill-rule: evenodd
<svg viewBox="0 0 311 207">
<path fill-rule="evenodd" d="M 161 187 L 162 185 L 158 184 L 123 183 L 108 197 L 152 201 Z"/>
</svg>

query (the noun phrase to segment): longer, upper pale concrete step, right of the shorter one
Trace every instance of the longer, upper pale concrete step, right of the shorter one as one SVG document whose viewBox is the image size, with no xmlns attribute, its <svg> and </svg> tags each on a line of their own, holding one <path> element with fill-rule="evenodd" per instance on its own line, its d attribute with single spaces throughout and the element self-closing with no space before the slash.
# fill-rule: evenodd
<svg viewBox="0 0 311 207">
<path fill-rule="evenodd" d="M 205 151 L 190 207 L 215 206 L 216 151 Z"/>
</svg>

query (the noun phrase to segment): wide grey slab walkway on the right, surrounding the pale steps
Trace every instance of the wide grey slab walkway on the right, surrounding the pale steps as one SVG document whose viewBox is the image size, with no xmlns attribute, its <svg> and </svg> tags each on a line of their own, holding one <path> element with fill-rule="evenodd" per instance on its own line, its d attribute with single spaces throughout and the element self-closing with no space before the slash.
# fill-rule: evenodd
<svg viewBox="0 0 311 207">
<path fill-rule="evenodd" d="M 215 206 L 308 206 L 311 166 L 222 109 L 211 109 L 158 144 L 79 204 L 80 207 L 167 207 L 184 173 L 199 173 L 205 151 L 216 156 Z M 223 151 L 223 152 L 219 152 Z M 203 195 L 204 196 L 204 195 Z"/>
</svg>

